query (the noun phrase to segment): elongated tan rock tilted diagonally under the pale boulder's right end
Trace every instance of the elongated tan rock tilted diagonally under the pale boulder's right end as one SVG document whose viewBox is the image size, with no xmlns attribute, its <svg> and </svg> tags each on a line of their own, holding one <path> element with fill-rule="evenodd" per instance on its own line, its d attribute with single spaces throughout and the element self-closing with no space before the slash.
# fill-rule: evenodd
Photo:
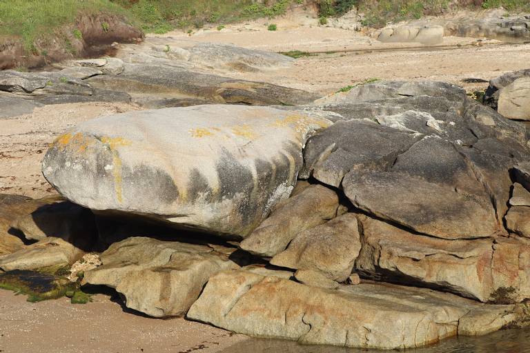
<svg viewBox="0 0 530 353">
<path fill-rule="evenodd" d="M 240 248 L 261 256 L 274 256 L 303 230 L 337 215 L 337 193 L 322 185 L 310 185 L 284 201 L 257 227 Z"/>
</svg>

